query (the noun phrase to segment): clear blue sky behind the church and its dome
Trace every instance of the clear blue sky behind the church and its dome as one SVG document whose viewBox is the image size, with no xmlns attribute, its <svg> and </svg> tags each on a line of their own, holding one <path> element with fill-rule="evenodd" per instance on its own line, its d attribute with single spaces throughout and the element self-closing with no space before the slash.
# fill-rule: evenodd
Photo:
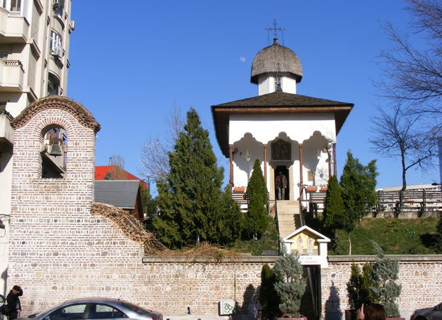
<svg viewBox="0 0 442 320">
<path fill-rule="evenodd" d="M 251 62 L 270 44 L 273 35 L 265 29 L 276 18 L 285 28 L 284 45 L 302 63 L 298 93 L 355 105 L 338 134 L 338 174 L 350 149 L 362 163 L 378 159 L 378 187 L 398 186 L 398 159 L 374 154 L 367 139 L 369 117 L 382 106 L 372 85 L 380 77 L 377 57 L 391 48 L 381 23 L 406 28 L 404 6 L 399 0 L 75 0 L 68 97 L 102 125 L 97 165 L 121 154 L 126 170 L 137 174 L 142 144 L 149 135 L 165 134 L 164 117 L 176 103 L 184 112 L 191 106 L 198 111 L 227 176 L 210 106 L 258 94 L 250 83 Z M 409 184 L 434 181 L 436 169 L 407 174 Z"/>
</svg>

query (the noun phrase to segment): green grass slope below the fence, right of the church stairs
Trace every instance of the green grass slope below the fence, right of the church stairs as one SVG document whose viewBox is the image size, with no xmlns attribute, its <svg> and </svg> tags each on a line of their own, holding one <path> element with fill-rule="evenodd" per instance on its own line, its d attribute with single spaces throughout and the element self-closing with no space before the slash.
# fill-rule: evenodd
<svg viewBox="0 0 442 320">
<path fill-rule="evenodd" d="M 376 241 L 387 254 L 434 254 L 432 242 L 439 219 L 363 219 L 350 232 L 352 254 L 374 254 Z M 347 233 L 338 231 L 338 242 L 329 254 L 348 254 Z"/>
</svg>

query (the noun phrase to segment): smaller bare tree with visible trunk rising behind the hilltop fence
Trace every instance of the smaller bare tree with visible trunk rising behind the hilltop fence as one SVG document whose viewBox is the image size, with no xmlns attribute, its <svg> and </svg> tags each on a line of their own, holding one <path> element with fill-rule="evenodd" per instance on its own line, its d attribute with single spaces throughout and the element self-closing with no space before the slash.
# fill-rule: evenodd
<svg viewBox="0 0 442 320">
<path fill-rule="evenodd" d="M 407 170 L 416 167 L 426 170 L 432 167 L 432 157 L 436 155 L 436 139 L 420 127 L 421 114 L 407 114 L 401 106 L 387 113 L 377 108 L 379 116 L 372 117 L 369 139 L 372 149 L 381 157 L 401 159 L 402 189 L 399 193 L 400 208 L 403 205 L 403 191 L 407 188 Z"/>
</svg>

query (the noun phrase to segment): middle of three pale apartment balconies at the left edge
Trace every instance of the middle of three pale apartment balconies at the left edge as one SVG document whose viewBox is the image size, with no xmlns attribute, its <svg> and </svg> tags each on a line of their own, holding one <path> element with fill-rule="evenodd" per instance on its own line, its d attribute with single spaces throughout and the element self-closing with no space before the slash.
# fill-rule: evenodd
<svg viewBox="0 0 442 320">
<path fill-rule="evenodd" d="M 0 59 L 0 92 L 22 92 L 24 74 L 19 60 Z"/>
</svg>

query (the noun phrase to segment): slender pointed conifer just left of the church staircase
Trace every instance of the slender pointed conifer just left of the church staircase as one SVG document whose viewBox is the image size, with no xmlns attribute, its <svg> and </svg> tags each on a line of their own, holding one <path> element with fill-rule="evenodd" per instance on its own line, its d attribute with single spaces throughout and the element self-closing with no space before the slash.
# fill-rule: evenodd
<svg viewBox="0 0 442 320">
<path fill-rule="evenodd" d="M 253 163 L 253 172 L 247 184 L 249 210 L 247 211 L 247 233 L 249 237 L 260 237 L 269 226 L 267 216 L 267 186 L 258 159 Z"/>
</svg>

